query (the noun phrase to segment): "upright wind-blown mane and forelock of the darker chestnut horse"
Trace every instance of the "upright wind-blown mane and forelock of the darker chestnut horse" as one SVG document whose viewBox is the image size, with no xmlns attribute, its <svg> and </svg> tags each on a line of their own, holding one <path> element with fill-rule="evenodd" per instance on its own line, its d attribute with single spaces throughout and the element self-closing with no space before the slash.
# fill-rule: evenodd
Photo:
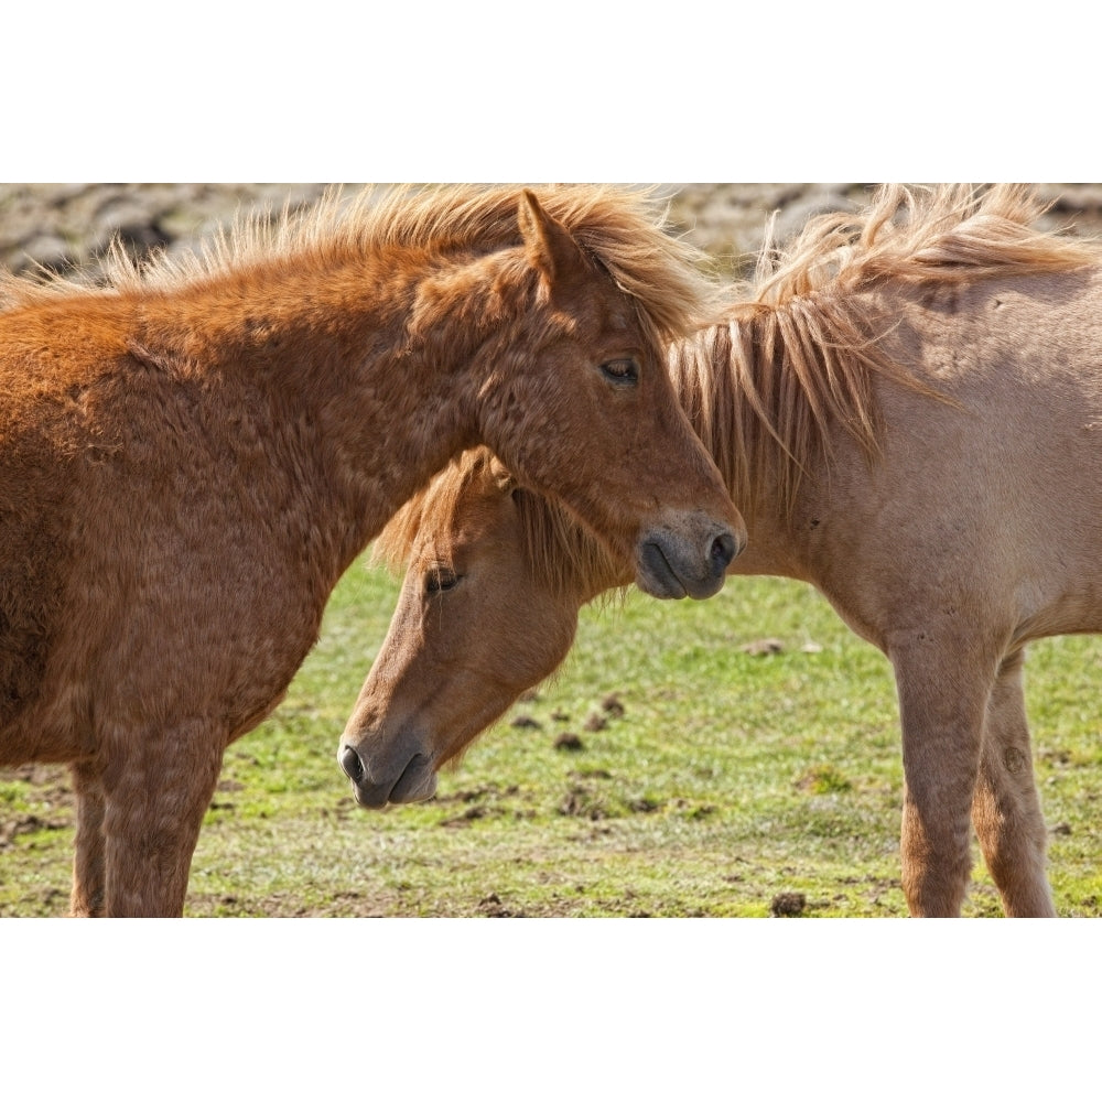
<svg viewBox="0 0 1102 1102">
<path fill-rule="evenodd" d="M 706 255 L 670 231 L 668 206 L 655 187 L 563 184 L 530 188 L 595 263 L 637 305 L 661 344 L 715 317 L 716 282 Z M 137 261 L 118 241 L 93 283 L 42 271 L 0 272 L 0 310 L 56 295 L 140 295 L 174 291 L 266 266 L 326 269 L 385 248 L 444 256 L 489 252 L 521 241 L 520 185 L 473 184 L 368 187 L 350 201 L 332 187 L 313 206 L 279 215 L 238 215 L 196 250 L 154 253 Z"/>
</svg>

